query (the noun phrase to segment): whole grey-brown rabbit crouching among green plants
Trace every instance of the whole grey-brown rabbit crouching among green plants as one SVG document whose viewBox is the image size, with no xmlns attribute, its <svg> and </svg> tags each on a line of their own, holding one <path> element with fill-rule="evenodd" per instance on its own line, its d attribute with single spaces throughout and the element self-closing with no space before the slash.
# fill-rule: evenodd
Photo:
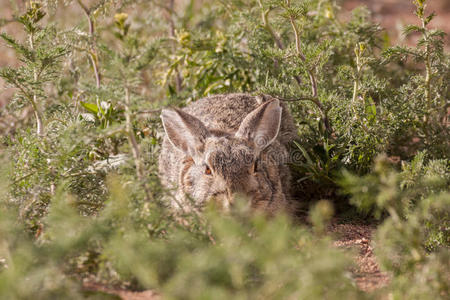
<svg viewBox="0 0 450 300">
<path fill-rule="evenodd" d="M 284 103 L 267 95 L 225 94 L 164 109 L 159 175 L 184 211 L 209 201 L 229 210 L 243 195 L 269 215 L 289 212 L 289 144 L 297 136 Z"/>
</svg>

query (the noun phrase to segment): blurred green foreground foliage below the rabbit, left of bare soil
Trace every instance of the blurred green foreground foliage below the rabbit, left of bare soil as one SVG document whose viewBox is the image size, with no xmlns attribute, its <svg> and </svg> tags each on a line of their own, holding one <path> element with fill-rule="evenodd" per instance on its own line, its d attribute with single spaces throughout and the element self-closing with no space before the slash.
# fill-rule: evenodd
<svg viewBox="0 0 450 300">
<path fill-rule="evenodd" d="M 224 217 L 210 209 L 201 217 L 200 236 L 172 220 L 160 223 L 165 234 L 158 237 L 140 222 L 155 226 L 156 219 L 167 222 L 170 216 L 148 206 L 140 216 L 130 214 L 136 204 L 118 182 L 110 181 L 111 196 L 95 219 L 80 216 L 75 199 L 58 191 L 38 244 L 21 242 L 23 231 L 17 235 L 10 229 L 15 225 L 2 224 L 9 228 L 2 235 L 2 250 L 11 257 L 0 274 L 0 294 L 76 297 L 76 281 L 63 275 L 63 262 L 99 248 L 101 261 L 110 261 L 116 276 L 136 278 L 141 287 L 157 289 L 168 298 L 362 297 L 347 274 L 348 257 L 328 239 L 315 238 L 283 216 L 267 220 L 241 208 Z M 24 280 L 29 281 L 27 289 Z"/>
</svg>

